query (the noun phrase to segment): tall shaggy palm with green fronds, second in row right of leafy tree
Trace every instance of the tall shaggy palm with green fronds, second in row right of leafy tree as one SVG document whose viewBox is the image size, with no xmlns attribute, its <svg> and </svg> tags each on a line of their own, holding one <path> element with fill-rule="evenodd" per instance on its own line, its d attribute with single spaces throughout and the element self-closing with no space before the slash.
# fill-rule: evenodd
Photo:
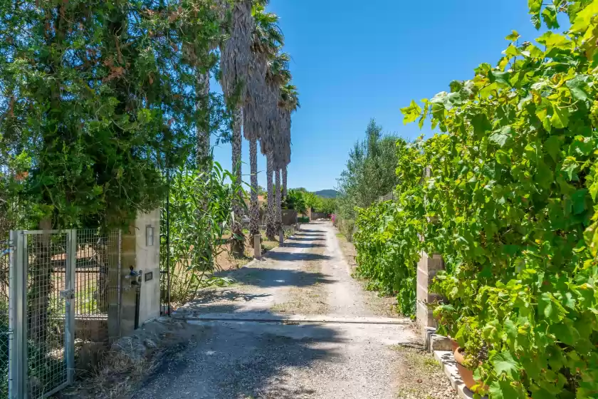
<svg viewBox="0 0 598 399">
<path fill-rule="evenodd" d="M 253 43 L 251 44 L 251 62 L 247 79 L 248 98 L 243 107 L 243 133 L 249 141 L 249 157 L 251 165 L 251 204 L 250 225 L 251 236 L 259 234 L 259 205 L 258 205 L 258 145 L 261 140 L 261 149 L 268 147 L 268 137 L 263 137 L 263 132 L 268 130 L 273 113 L 264 105 L 267 103 L 266 73 L 268 65 L 283 46 L 284 36 L 278 28 L 278 16 L 268 13 L 264 9 L 265 1 L 261 1 L 253 8 L 255 28 Z M 266 135 L 267 136 L 267 135 Z M 271 175 L 268 175 L 271 177 Z M 268 193 L 271 192 L 271 184 Z M 270 197 L 272 198 L 272 197 Z"/>
</svg>

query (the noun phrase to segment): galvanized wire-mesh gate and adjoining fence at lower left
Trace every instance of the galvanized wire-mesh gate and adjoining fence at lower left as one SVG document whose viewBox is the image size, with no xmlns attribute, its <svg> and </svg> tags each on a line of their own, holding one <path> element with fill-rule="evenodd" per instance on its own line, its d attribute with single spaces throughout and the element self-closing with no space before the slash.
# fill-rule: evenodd
<svg viewBox="0 0 598 399">
<path fill-rule="evenodd" d="M 21 230 L 10 245 L 9 398 L 47 398 L 73 382 L 75 340 L 118 323 L 120 233 Z"/>
</svg>

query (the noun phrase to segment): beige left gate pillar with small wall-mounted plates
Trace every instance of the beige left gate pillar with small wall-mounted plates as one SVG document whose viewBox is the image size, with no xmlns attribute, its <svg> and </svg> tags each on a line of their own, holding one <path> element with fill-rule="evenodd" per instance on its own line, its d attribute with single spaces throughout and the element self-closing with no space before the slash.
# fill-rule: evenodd
<svg viewBox="0 0 598 399">
<path fill-rule="evenodd" d="M 150 229 L 148 229 L 150 227 Z M 147 233 L 153 228 L 153 244 Z M 159 316 L 160 306 L 160 212 L 138 214 L 128 230 L 123 230 L 120 244 L 120 312 L 111 304 L 108 315 L 110 338 L 127 336 L 135 331 L 137 291 L 139 291 L 138 323 Z M 151 241 L 151 239 L 149 240 Z M 131 276 L 131 267 L 139 276 Z M 134 281 L 136 281 L 134 283 Z M 140 281 L 140 282 L 139 282 Z"/>
</svg>

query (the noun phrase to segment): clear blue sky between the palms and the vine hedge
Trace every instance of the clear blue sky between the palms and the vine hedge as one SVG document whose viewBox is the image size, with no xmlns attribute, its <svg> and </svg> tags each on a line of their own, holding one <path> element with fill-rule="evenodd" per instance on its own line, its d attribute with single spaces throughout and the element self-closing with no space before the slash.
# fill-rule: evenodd
<svg viewBox="0 0 598 399">
<path fill-rule="evenodd" d="M 454 79 L 471 78 L 479 63 L 494 65 L 512 29 L 533 41 L 539 34 L 527 3 L 271 0 L 269 10 L 280 16 L 285 51 L 293 58 L 290 70 L 301 103 L 293 115 L 289 187 L 334 188 L 370 118 L 386 133 L 419 135 L 416 125 L 403 125 L 399 108 L 449 90 Z M 230 169 L 230 145 L 219 145 L 214 155 Z M 246 175 L 245 140 L 243 162 Z M 258 168 L 265 187 L 261 156 Z"/>
</svg>

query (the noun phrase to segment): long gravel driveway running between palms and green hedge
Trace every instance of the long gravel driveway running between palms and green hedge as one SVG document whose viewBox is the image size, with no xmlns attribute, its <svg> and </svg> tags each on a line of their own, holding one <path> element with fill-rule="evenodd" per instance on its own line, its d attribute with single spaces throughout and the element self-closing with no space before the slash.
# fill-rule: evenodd
<svg viewBox="0 0 598 399">
<path fill-rule="evenodd" d="M 368 306 L 330 223 L 304 225 L 267 259 L 228 275 L 238 284 L 177 311 L 201 340 L 133 398 L 456 398 L 413 348 L 412 323 Z"/>
</svg>

